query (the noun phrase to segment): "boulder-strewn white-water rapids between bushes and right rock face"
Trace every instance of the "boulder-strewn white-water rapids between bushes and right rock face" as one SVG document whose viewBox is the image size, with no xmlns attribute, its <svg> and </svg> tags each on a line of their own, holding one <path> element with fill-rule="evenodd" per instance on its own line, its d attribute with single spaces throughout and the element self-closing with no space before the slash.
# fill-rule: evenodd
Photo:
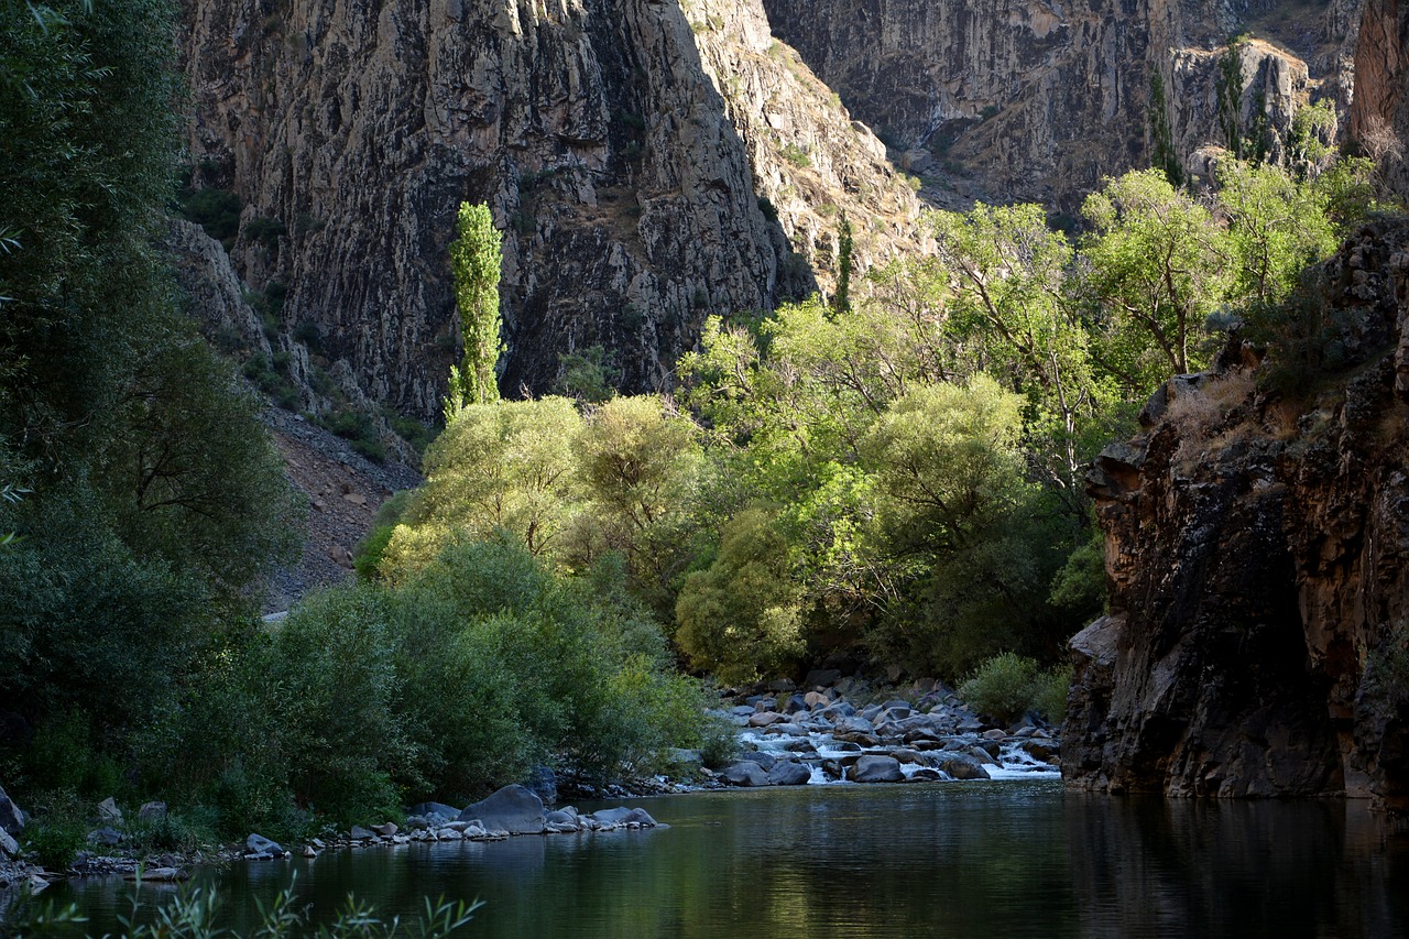
<svg viewBox="0 0 1409 939">
<path fill-rule="evenodd" d="M 727 716 L 741 728 L 740 759 L 712 778 L 743 787 L 821 782 L 940 782 L 1057 778 L 1060 742 L 1030 718 L 1012 728 L 969 711 L 938 682 L 874 704 L 852 678 L 816 671 L 744 695 Z"/>
</svg>

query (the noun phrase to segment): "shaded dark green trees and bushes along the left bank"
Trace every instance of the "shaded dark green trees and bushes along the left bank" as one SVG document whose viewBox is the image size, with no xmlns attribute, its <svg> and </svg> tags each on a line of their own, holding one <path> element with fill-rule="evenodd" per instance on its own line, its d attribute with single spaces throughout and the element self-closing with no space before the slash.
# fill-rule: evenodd
<svg viewBox="0 0 1409 939">
<path fill-rule="evenodd" d="M 255 616 L 302 508 L 162 258 L 172 16 L 0 6 L 0 777 L 46 818 L 31 847 L 82 847 L 107 795 L 166 797 L 130 835 L 189 847 L 709 747 L 606 556 L 568 581 L 486 530 L 395 587 Z"/>
</svg>

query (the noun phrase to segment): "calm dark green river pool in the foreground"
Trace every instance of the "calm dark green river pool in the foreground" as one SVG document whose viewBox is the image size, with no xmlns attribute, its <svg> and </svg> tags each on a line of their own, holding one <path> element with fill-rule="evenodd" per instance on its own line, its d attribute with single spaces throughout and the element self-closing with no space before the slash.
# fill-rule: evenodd
<svg viewBox="0 0 1409 939">
<path fill-rule="evenodd" d="M 297 873 L 331 912 L 480 898 L 495 939 L 1409 936 L 1409 837 L 1361 802 L 1185 802 L 1057 781 L 807 785 L 628 801 L 669 828 L 407 845 L 203 876 L 227 925 Z M 593 808 L 593 806 L 583 806 Z M 144 887 L 139 902 L 170 888 Z M 76 900 L 101 935 L 132 888 Z"/>
</svg>

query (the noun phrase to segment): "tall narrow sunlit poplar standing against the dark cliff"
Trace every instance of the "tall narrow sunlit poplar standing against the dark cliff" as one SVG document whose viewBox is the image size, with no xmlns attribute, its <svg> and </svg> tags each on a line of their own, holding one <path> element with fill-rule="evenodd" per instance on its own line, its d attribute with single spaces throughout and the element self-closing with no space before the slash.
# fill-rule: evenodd
<svg viewBox="0 0 1409 939">
<path fill-rule="evenodd" d="M 499 341 L 499 268 L 503 251 L 489 206 L 459 203 L 455 231 L 459 237 L 449 245 L 449 264 L 455 278 L 455 305 L 459 307 L 465 354 L 461 364 L 451 365 L 449 369 L 447 423 L 466 405 L 499 400 L 495 367 L 503 350 Z"/>
</svg>

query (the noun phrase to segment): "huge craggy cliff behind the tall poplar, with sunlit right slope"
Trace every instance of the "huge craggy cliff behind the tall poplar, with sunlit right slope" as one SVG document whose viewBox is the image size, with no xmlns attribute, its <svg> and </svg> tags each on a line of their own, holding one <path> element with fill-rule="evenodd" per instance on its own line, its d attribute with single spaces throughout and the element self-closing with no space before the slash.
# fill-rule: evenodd
<svg viewBox="0 0 1409 939">
<path fill-rule="evenodd" d="M 883 147 L 757 0 L 187 0 L 193 185 L 242 203 L 231 261 L 280 333 L 366 396 L 437 413 L 458 354 L 455 206 L 506 231 L 502 385 L 600 344 L 669 386 L 709 313 L 909 244 Z M 761 196 L 764 197 L 761 200 Z"/>
</svg>

